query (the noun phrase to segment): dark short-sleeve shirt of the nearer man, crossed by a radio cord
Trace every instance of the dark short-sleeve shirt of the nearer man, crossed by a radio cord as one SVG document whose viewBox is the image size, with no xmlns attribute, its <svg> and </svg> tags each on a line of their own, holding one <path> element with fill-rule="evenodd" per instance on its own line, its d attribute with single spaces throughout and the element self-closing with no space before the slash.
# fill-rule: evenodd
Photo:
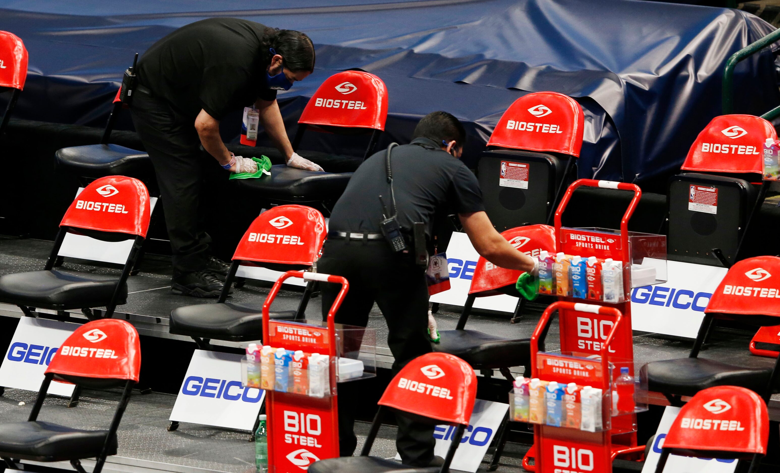
<svg viewBox="0 0 780 473">
<path fill-rule="evenodd" d="M 385 156 L 386 150 L 381 150 L 360 164 L 333 207 L 329 230 L 380 232 L 382 204 L 378 196 L 390 206 Z M 434 215 L 441 211 L 469 214 L 484 210 L 477 177 L 432 139 L 417 138 L 410 144 L 395 146 L 391 163 L 402 228 L 410 230 L 414 222 L 423 222 L 431 236 Z"/>
</svg>

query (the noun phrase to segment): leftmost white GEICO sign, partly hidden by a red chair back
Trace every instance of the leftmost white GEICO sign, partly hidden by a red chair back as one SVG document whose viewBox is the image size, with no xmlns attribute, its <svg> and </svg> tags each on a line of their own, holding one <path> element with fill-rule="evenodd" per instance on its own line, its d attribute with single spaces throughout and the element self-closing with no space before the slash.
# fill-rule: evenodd
<svg viewBox="0 0 780 473">
<path fill-rule="evenodd" d="M 20 318 L 0 365 L 0 386 L 40 390 L 51 358 L 78 327 L 78 323 Z M 47 392 L 70 396 L 73 394 L 73 384 L 52 381 Z"/>
</svg>

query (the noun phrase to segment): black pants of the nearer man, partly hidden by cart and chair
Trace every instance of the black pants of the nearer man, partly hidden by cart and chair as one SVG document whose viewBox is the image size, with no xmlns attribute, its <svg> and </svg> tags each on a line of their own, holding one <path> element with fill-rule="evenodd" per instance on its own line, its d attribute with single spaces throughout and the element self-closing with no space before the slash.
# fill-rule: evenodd
<svg viewBox="0 0 780 473">
<path fill-rule="evenodd" d="M 366 327 L 377 303 L 388 324 L 388 344 L 395 362 L 393 373 L 413 358 L 431 351 L 427 337 L 428 290 L 424 270 L 409 255 L 394 253 L 384 241 L 331 239 L 325 242 L 317 272 L 337 274 L 349 281 L 349 292 L 336 313 L 336 323 Z M 322 314 L 327 316 L 338 284 L 322 285 Z M 339 384 L 339 448 L 342 457 L 353 454 L 356 436 L 354 408 L 361 402 L 360 382 Z M 396 415 L 395 441 L 403 463 L 427 466 L 434 457 L 434 426 Z"/>
</svg>

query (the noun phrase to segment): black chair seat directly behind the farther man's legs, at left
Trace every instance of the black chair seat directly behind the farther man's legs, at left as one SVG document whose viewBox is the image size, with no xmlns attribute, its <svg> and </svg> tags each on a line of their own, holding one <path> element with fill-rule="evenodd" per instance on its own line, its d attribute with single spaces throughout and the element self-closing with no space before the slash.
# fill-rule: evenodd
<svg viewBox="0 0 780 473">
<path fill-rule="evenodd" d="M 70 146 L 57 150 L 58 164 L 72 168 L 79 175 L 103 177 L 107 175 L 126 175 L 137 177 L 148 174 L 151 168 L 149 155 L 116 144 L 91 144 Z"/>
</svg>

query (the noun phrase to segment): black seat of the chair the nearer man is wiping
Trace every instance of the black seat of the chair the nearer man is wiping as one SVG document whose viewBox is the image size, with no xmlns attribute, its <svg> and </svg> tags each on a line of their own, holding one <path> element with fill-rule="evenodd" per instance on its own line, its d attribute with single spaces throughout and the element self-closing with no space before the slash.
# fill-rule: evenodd
<svg viewBox="0 0 780 473">
<path fill-rule="evenodd" d="M 433 351 L 456 355 L 473 368 L 509 368 L 530 364 L 530 338 L 502 338 L 477 330 L 440 330 Z"/>
</svg>

